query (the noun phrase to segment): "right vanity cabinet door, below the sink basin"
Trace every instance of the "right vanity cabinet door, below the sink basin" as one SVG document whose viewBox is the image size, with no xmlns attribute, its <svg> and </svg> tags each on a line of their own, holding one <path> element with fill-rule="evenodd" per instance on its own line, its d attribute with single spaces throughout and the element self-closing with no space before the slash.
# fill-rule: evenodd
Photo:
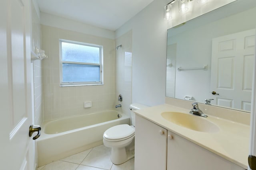
<svg viewBox="0 0 256 170">
<path fill-rule="evenodd" d="M 167 141 L 167 170 L 244 170 L 170 131 Z"/>
</svg>

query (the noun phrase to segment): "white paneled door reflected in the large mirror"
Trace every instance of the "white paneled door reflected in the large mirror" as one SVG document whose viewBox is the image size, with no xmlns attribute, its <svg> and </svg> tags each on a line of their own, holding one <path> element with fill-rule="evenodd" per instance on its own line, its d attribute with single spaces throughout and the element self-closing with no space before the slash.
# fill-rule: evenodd
<svg viewBox="0 0 256 170">
<path fill-rule="evenodd" d="M 255 29 L 212 39 L 212 104 L 251 109 Z"/>
</svg>

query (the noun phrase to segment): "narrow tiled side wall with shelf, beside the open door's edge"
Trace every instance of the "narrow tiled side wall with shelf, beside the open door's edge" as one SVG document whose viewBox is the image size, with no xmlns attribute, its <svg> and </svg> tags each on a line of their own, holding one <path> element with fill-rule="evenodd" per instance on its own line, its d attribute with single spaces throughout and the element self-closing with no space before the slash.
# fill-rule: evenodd
<svg viewBox="0 0 256 170">
<path fill-rule="evenodd" d="M 33 2 L 34 3 L 34 2 Z M 41 25 L 40 17 L 36 12 L 36 5 L 32 5 L 32 51 L 36 48 L 41 49 Z M 34 117 L 35 124 L 41 125 L 43 121 L 43 96 L 42 96 L 42 61 L 33 62 L 33 80 L 34 80 Z"/>
</svg>

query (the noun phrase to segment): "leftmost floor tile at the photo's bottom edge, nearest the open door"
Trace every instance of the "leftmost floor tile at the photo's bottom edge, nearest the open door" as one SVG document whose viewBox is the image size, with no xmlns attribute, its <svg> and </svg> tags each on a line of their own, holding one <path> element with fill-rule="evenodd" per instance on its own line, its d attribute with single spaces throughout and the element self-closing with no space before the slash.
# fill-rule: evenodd
<svg viewBox="0 0 256 170">
<path fill-rule="evenodd" d="M 76 170 L 78 164 L 57 160 L 47 164 L 42 170 Z"/>
</svg>

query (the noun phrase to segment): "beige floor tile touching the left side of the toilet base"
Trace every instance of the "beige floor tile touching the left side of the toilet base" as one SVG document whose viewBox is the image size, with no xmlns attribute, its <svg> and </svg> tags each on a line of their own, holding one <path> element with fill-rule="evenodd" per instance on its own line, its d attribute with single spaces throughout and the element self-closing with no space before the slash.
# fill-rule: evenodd
<svg viewBox="0 0 256 170">
<path fill-rule="evenodd" d="M 100 145 L 93 148 L 81 164 L 110 170 L 112 167 L 110 154 L 110 148 L 105 147 L 104 145 Z"/>
</svg>

